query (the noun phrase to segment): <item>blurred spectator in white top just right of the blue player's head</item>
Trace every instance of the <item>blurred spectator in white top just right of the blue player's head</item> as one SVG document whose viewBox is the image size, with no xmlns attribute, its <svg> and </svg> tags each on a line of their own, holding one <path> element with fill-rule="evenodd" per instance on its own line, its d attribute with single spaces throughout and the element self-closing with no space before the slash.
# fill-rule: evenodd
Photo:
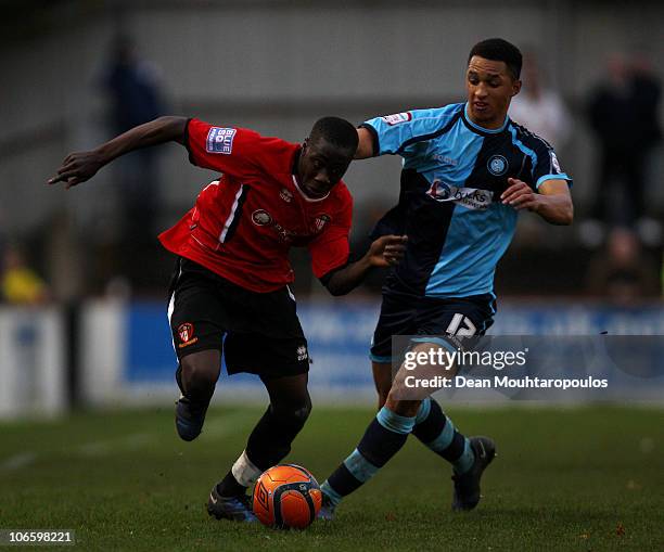
<svg viewBox="0 0 664 552">
<path fill-rule="evenodd" d="M 510 118 L 561 150 L 571 134 L 570 114 L 560 94 L 547 87 L 533 51 L 523 56 L 521 80 L 521 92 L 510 104 Z"/>
</svg>

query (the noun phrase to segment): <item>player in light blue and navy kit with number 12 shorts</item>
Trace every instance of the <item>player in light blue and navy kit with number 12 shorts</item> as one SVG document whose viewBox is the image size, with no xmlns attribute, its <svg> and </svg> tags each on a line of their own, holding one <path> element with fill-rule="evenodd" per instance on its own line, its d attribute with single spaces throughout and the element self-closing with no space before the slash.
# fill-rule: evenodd
<svg viewBox="0 0 664 552">
<path fill-rule="evenodd" d="M 392 381 L 391 341 L 421 335 L 410 350 L 454 351 L 460 338 L 484 334 L 496 312 L 494 271 L 519 211 L 552 224 L 572 222 L 572 180 L 553 149 L 507 115 L 521 89 L 521 64 L 513 44 L 484 40 L 469 55 L 465 103 L 378 117 L 358 129 L 356 158 L 404 157 L 399 203 L 375 234 L 407 234 L 408 245 L 383 287 L 371 347 L 380 411 L 322 484 L 322 518 L 332 518 L 342 498 L 375 475 L 409 434 L 451 463 L 454 510 L 480 502 L 494 441 L 464 437 L 430 397 L 405 397 L 396 384 L 404 367 Z"/>
</svg>

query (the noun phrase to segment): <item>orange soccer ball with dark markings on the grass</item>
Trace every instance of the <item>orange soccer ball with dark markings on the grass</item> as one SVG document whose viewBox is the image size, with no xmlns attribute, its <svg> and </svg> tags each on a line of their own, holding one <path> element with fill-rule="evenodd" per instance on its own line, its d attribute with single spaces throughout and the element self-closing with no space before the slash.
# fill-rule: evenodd
<svg viewBox="0 0 664 552">
<path fill-rule="evenodd" d="M 295 464 L 270 467 L 254 488 L 254 514 L 268 527 L 304 529 L 316 519 L 321 502 L 318 482 Z"/>
</svg>

